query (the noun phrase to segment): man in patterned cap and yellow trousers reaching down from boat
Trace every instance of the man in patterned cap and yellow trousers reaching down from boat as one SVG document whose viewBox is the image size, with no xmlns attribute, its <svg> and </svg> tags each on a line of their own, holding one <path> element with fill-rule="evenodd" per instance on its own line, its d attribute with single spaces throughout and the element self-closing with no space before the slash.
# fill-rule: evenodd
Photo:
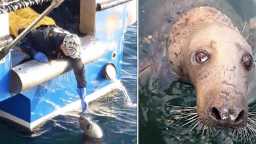
<svg viewBox="0 0 256 144">
<path fill-rule="evenodd" d="M 10 33 L 17 37 L 28 27 L 39 14 L 30 8 L 16 10 L 9 13 Z M 77 93 L 81 99 L 83 111 L 88 105 L 85 97 L 85 70 L 81 61 L 81 42 L 79 37 L 57 27 L 54 20 L 45 16 L 33 29 L 20 41 L 20 48 L 30 58 L 47 63 L 48 58 L 68 58 L 74 67 Z"/>
</svg>

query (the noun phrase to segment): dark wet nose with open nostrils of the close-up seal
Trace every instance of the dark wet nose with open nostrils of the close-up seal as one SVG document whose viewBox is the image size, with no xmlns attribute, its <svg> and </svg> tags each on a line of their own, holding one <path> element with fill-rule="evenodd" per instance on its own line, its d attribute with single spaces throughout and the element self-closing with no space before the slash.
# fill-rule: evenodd
<svg viewBox="0 0 256 144">
<path fill-rule="evenodd" d="M 211 107 L 209 109 L 209 117 L 213 123 L 230 128 L 242 128 L 247 123 L 245 110 L 236 106 Z"/>
</svg>

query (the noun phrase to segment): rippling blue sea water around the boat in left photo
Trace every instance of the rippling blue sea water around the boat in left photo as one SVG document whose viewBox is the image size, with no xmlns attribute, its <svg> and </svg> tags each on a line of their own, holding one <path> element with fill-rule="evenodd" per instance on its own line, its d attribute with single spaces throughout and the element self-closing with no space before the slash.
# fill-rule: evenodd
<svg viewBox="0 0 256 144">
<path fill-rule="evenodd" d="M 137 103 L 137 23 L 128 27 L 125 33 L 121 82 L 132 103 Z M 95 139 L 83 137 L 79 115 L 102 128 L 101 143 L 137 143 L 137 105 L 127 104 L 122 90 L 91 103 L 88 113 L 81 114 L 81 110 L 77 110 L 54 117 L 33 134 L 1 120 L 0 143 L 98 143 Z"/>
</svg>

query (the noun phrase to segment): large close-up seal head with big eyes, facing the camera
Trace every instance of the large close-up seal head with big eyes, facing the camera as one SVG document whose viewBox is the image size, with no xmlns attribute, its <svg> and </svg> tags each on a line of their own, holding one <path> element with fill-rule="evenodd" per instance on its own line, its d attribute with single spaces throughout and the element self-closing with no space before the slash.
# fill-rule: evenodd
<svg viewBox="0 0 256 144">
<path fill-rule="evenodd" d="M 251 46 L 220 10 L 198 7 L 171 29 L 169 62 L 196 88 L 196 109 L 208 126 L 247 124 L 246 91 L 253 66 Z"/>
</svg>

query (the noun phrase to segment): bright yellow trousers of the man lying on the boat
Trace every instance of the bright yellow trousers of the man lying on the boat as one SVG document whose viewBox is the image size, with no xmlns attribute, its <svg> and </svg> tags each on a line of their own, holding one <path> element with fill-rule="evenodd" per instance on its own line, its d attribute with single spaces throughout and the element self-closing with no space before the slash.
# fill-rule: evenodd
<svg viewBox="0 0 256 144">
<path fill-rule="evenodd" d="M 14 12 L 9 13 L 9 29 L 11 35 L 15 37 L 18 36 L 18 30 L 26 29 L 26 27 L 30 26 L 32 22 L 39 16 L 37 12 L 35 12 L 30 7 L 26 9 L 15 10 Z M 38 22 L 33 29 L 36 29 L 39 26 L 56 26 L 54 20 L 45 16 L 40 22 Z"/>
</svg>

